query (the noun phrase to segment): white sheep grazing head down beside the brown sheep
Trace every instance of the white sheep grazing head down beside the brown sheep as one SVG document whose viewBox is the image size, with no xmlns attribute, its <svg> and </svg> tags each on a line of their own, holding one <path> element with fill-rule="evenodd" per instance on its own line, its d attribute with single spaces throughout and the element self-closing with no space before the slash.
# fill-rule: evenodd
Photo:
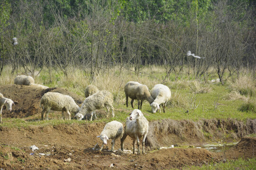
<svg viewBox="0 0 256 170">
<path fill-rule="evenodd" d="M 157 84 L 151 91 L 151 96 L 155 99 L 154 102 L 150 104 L 152 112 L 155 113 L 157 110 L 161 113 L 160 105 L 163 106 L 165 113 L 165 105 L 171 99 L 171 90 L 166 85 Z"/>
</svg>

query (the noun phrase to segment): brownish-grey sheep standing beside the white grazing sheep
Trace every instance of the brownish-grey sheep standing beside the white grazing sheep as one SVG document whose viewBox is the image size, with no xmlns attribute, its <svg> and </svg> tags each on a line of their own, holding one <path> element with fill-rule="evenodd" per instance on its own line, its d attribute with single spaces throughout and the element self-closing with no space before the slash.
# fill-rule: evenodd
<svg viewBox="0 0 256 170">
<path fill-rule="evenodd" d="M 133 107 L 133 101 L 136 99 L 138 101 L 138 109 L 141 109 L 142 102 L 146 100 L 151 104 L 154 99 L 151 96 L 149 89 L 146 85 L 141 85 L 138 82 L 129 81 L 124 88 L 126 97 L 126 107 L 128 107 L 128 97 L 131 98 L 131 106 Z"/>
</svg>

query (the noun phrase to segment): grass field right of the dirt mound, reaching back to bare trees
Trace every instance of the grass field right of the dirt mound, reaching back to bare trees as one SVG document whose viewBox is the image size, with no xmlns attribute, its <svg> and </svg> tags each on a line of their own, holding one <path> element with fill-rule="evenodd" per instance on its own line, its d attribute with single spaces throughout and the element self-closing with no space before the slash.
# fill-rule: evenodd
<svg viewBox="0 0 256 170">
<path fill-rule="evenodd" d="M 165 70 L 156 66 L 144 68 L 139 76 L 136 76 L 131 70 L 123 70 L 120 73 L 118 68 L 113 68 L 97 74 L 93 81 L 88 73 L 89 70 L 73 69 L 70 70 L 69 75 L 64 76 L 62 72 L 54 71 L 50 78 L 48 72 L 42 70 L 40 75 L 35 77 L 35 82 L 49 87 L 64 87 L 82 97 L 84 88 L 90 84 L 96 85 L 100 90 L 108 90 L 114 95 L 114 107 L 116 109 L 114 119 L 119 121 L 123 121 L 127 113 L 132 110 L 130 99 L 129 107 L 127 108 L 125 105 L 123 89 L 128 81 L 138 81 L 147 85 L 149 89 L 153 88 L 155 84 L 164 84 L 171 89 L 172 98 L 167 103 L 165 113 L 152 114 L 149 103 L 143 102 L 142 112 L 149 120 L 198 120 L 202 118 L 245 120 L 256 118 L 256 80 L 250 74 L 244 74 L 233 81 L 230 79 L 225 85 L 221 85 L 220 83 L 210 83 L 210 79 L 218 78 L 217 75 L 211 74 L 209 81 L 204 82 L 200 79 L 194 79 L 193 76 L 187 76 L 186 73 L 178 76 L 176 80 L 174 80 L 175 75 L 171 75 L 163 83 Z M 5 67 L 3 75 L 0 77 L 0 85 L 13 84 L 15 76 L 10 74 L 9 67 Z M 136 100 L 134 107 L 137 108 Z M 102 118 L 96 121 L 109 121 L 109 119 Z M 33 124 L 33 122 L 31 123 Z"/>
</svg>

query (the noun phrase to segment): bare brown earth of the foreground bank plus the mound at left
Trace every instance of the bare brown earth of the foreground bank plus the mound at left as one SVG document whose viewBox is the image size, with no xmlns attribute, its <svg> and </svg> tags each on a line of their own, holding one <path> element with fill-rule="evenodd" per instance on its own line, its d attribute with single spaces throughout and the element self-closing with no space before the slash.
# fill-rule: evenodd
<svg viewBox="0 0 256 170">
<path fill-rule="evenodd" d="M 62 88 L 46 90 L 20 86 L 1 85 L 0 93 L 16 102 L 11 113 L 3 110 L 3 117 L 27 118 L 40 113 L 41 96 L 55 91 L 71 95 L 81 105 L 83 98 Z M 38 115 L 37 115 L 38 117 Z M 103 149 L 92 150 L 101 140 L 96 136 L 101 133 L 104 123 L 60 124 L 56 126 L 0 127 L 0 168 L 4 170 L 67 170 L 67 169 L 118 169 L 118 170 L 159 170 L 181 169 L 184 166 L 208 164 L 212 161 L 255 157 L 256 138 L 243 137 L 256 132 L 256 120 L 246 123 L 235 119 L 229 120 L 162 120 L 150 122 L 150 133 L 146 139 L 146 155 L 115 152 Z M 203 135 L 202 130 L 212 134 L 211 139 Z M 223 131 L 230 132 L 229 140 L 242 140 L 229 150 L 214 153 L 206 149 L 174 147 L 158 150 L 160 146 L 181 146 L 183 144 L 202 144 L 217 141 Z M 39 149 L 32 151 L 29 147 Z M 110 141 L 107 145 L 111 147 Z M 132 150 L 132 141 L 128 137 L 124 145 Z M 192 147 L 192 146 L 191 146 Z M 104 147 L 105 148 L 105 147 Z M 120 148 L 118 140 L 115 149 Z M 157 149 L 158 148 L 158 149 Z M 223 150 L 224 151 L 224 150 Z M 40 153 L 40 154 L 39 154 Z M 45 154 L 45 155 L 42 155 Z M 64 161 L 71 158 L 71 161 Z M 110 168 L 110 165 L 112 167 Z"/>
</svg>

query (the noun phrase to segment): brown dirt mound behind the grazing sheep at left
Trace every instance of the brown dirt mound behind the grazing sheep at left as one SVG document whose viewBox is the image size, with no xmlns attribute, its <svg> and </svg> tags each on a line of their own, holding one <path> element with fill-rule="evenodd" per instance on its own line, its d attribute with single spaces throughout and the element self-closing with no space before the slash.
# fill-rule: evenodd
<svg viewBox="0 0 256 170">
<path fill-rule="evenodd" d="M 74 101 L 81 105 L 83 98 L 69 92 L 64 88 L 41 89 L 27 85 L 0 85 L 0 93 L 15 102 L 11 112 L 3 110 L 3 117 L 25 118 L 41 112 L 40 99 L 47 92 L 58 92 L 70 95 Z"/>
</svg>

